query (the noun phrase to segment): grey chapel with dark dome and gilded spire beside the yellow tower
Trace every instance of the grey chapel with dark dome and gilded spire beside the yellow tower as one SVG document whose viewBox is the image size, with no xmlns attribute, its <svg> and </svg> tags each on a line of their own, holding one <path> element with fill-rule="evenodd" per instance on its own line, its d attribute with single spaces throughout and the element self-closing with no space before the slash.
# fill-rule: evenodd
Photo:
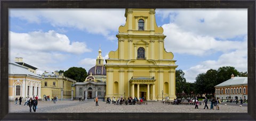
<svg viewBox="0 0 256 121">
<path fill-rule="evenodd" d="M 85 100 L 87 100 L 94 99 L 97 96 L 99 99 L 103 99 L 106 93 L 106 70 L 103 65 L 101 49 L 99 49 L 96 65 L 90 68 L 88 74 L 89 76 L 86 77 L 84 82 L 75 83 L 75 99 L 86 97 Z"/>
</svg>

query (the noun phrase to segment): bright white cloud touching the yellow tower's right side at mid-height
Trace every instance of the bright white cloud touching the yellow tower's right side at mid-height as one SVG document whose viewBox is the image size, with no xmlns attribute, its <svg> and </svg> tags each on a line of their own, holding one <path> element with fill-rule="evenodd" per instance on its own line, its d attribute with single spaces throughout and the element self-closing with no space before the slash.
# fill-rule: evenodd
<svg viewBox="0 0 256 121">
<path fill-rule="evenodd" d="M 173 53 L 204 56 L 217 51 L 226 53 L 230 50 L 241 49 L 241 41 L 220 41 L 211 36 L 200 36 L 182 30 L 174 23 L 164 24 L 163 28 L 166 35 L 165 48 Z"/>
</svg>

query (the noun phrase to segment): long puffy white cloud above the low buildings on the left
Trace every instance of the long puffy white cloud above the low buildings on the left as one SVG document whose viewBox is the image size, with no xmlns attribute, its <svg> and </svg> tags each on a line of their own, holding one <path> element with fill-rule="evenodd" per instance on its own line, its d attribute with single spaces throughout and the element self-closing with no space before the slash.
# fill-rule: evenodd
<svg viewBox="0 0 256 121">
<path fill-rule="evenodd" d="M 10 47 L 31 51 L 59 51 L 82 54 L 91 51 L 84 42 L 71 42 L 65 34 L 53 30 L 48 32 L 34 31 L 29 33 L 9 32 Z"/>
</svg>

